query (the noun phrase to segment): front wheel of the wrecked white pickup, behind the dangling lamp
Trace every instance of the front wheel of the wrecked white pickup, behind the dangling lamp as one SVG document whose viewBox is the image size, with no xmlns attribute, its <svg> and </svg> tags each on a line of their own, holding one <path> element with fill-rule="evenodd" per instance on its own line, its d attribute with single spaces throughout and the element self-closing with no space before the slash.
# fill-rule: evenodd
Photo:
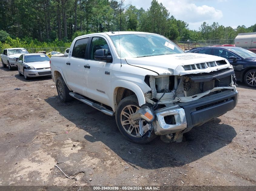
<svg viewBox="0 0 256 191">
<path fill-rule="evenodd" d="M 152 131 L 150 137 L 147 135 L 141 137 L 138 121 L 130 119 L 131 114 L 135 113 L 139 108 L 136 95 L 125 97 L 118 104 L 115 119 L 119 131 L 125 138 L 134 143 L 145 144 L 152 141 L 157 135 Z M 143 122 L 143 125 L 147 124 Z"/>
</svg>

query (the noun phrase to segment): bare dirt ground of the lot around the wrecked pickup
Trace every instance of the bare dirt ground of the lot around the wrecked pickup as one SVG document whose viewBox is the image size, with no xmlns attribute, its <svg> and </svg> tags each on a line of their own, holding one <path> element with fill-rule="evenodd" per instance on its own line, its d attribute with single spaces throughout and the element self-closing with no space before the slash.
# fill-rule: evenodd
<svg viewBox="0 0 256 191">
<path fill-rule="evenodd" d="M 0 82 L 2 186 L 256 185 L 256 90 L 242 83 L 234 110 L 181 143 L 138 145 L 115 117 L 78 100 L 61 103 L 51 77 L 27 81 L 1 67 Z"/>
</svg>

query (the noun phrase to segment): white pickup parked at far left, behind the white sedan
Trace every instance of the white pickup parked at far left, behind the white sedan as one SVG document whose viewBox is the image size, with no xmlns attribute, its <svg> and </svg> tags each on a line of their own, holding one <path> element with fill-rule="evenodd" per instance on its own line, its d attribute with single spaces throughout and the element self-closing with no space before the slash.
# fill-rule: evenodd
<svg viewBox="0 0 256 191">
<path fill-rule="evenodd" d="M 22 54 L 27 54 L 28 51 L 24 48 L 7 48 L 4 49 L 3 54 L 1 54 L 1 62 L 3 67 L 9 67 L 9 70 L 17 67 L 18 59 Z"/>
</svg>

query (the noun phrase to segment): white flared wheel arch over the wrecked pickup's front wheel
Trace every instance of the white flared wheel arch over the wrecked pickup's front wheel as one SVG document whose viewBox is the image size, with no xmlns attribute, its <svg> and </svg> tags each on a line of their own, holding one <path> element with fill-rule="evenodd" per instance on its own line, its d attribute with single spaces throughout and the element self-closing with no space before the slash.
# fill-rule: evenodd
<svg viewBox="0 0 256 191">
<path fill-rule="evenodd" d="M 146 103 L 144 94 L 143 94 L 141 88 L 137 84 L 134 84 L 129 81 L 124 81 L 124 80 L 116 80 L 116 81 L 112 82 L 112 84 L 111 84 L 112 95 L 115 95 L 115 91 L 117 88 L 127 88 L 127 89 L 133 91 L 138 98 L 139 106 L 142 106 L 143 104 Z M 114 106 L 114 108 L 116 108 L 116 106 L 117 106 L 115 97 L 116 96 L 113 96 L 113 99 L 112 99 L 112 105 Z"/>
</svg>

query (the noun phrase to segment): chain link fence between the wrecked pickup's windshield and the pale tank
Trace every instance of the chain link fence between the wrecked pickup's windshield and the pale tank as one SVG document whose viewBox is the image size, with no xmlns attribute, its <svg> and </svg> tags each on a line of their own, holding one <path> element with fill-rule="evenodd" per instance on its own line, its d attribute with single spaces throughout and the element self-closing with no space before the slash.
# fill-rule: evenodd
<svg viewBox="0 0 256 191">
<path fill-rule="evenodd" d="M 181 41 L 174 42 L 182 50 L 190 50 L 196 47 L 202 46 L 218 46 L 223 44 L 234 44 L 234 39 L 223 39 L 223 40 L 201 40 L 201 41 Z"/>
</svg>

